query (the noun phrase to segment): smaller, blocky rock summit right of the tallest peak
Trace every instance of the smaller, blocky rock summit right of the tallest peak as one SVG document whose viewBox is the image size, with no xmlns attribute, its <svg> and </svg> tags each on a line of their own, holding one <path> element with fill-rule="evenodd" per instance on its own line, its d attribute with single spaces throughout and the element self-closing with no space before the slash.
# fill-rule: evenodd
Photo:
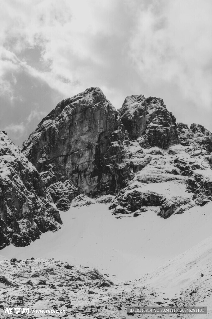
<svg viewBox="0 0 212 319">
<path fill-rule="evenodd" d="M 120 119 L 130 138 L 143 135 L 143 147 L 168 148 L 177 144 L 176 119 L 161 98 L 144 95 L 127 96 L 120 109 Z"/>
</svg>

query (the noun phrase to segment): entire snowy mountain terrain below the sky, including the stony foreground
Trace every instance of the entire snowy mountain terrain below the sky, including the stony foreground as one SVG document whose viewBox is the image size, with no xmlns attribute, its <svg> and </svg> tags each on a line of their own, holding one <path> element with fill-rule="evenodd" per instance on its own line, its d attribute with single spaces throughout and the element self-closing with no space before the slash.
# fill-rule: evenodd
<svg viewBox="0 0 212 319">
<path fill-rule="evenodd" d="M 21 152 L 0 137 L 2 308 L 18 290 L 15 306 L 55 304 L 70 318 L 168 304 L 212 314 L 208 130 L 176 124 L 160 98 L 128 96 L 115 110 L 89 88 L 61 101 Z"/>
</svg>

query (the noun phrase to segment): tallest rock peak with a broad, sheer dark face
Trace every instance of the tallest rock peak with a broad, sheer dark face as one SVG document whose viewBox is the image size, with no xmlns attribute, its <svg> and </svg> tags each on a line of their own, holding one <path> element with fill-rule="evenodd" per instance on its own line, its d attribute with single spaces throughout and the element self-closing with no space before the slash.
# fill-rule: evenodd
<svg viewBox="0 0 212 319">
<path fill-rule="evenodd" d="M 127 185 L 132 174 L 127 143 L 118 112 L 99 88 L 89 88 L 61 101 L 22 152 L 42 173 L 47 188 L 60 181 L 72 183 L 74 191 L 58 206 L 67 210 L 67 202 L 79 193 L 113 194 Z"/>
</svg>

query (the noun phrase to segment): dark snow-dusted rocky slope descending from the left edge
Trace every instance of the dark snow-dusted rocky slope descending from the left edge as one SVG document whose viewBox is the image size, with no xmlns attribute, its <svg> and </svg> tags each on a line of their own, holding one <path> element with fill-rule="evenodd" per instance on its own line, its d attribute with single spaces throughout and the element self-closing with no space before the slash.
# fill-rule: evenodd
<svg viewBox="0 0 212 319">
<path fill-rule="evenodd" d="M 0 249 L 29 245 L 61 223 L 40 174 L 0 131 Z"/>
</svg>

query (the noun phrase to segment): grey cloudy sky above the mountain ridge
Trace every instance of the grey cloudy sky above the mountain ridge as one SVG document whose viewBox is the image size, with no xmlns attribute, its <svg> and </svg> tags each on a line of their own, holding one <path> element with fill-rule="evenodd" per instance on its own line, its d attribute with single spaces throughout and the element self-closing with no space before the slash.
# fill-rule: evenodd
<svg viewBox="0 0 212 319">
<path fill-rule="evenodd" d="M 2 0 L 0 129 L 22 142 L 57 103 L 99 86 L 115 108 L 162 97 L 212 131 L 211 0 Z"/>
</svg>

